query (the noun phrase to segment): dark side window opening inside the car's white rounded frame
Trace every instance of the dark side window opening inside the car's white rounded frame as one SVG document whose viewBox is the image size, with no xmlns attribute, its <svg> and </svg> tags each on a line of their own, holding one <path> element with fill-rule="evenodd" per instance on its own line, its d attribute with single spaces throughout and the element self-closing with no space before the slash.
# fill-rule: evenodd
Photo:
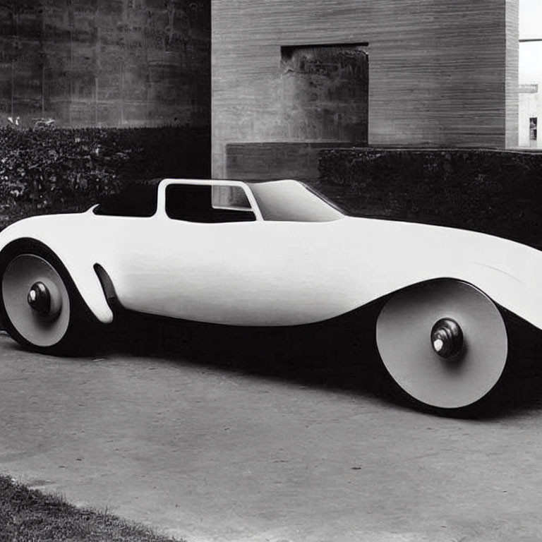
<svg viewBox="0 0 542 542">
<path fill-rule="evenodd" d="M 239 188 L 242 195 L 224 188 Z M 207 224 L 253 222 L 256 219 L 240 186 L 171 184 L 166 188 L 166 214 L 175 220 Z"/>
</svg>

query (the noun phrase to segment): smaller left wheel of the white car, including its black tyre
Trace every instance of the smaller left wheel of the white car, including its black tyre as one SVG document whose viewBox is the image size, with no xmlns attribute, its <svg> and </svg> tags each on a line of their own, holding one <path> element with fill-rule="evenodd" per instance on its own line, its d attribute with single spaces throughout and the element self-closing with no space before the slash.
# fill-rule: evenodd
<svg viewBox="0 0 542 542">
<path fill-rule="evenodd" d="M 83 336 L 84 306 L 64 265 L 41 246 L 20 246 L 0 258 L 1 315 L 23 347 L 64 354 Z"/>
</svg>

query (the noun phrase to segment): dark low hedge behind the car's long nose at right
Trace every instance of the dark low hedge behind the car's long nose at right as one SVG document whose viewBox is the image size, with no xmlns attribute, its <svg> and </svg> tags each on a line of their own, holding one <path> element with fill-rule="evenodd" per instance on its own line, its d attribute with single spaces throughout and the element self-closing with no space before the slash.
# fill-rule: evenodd
<svg viewBox="0 0 542 542">
<path fill-rule="evenodd" d="M 482 231 L 542 248 L 542 153 L 327 149 L 318 187 L 347 212 Z"/>
</svg>

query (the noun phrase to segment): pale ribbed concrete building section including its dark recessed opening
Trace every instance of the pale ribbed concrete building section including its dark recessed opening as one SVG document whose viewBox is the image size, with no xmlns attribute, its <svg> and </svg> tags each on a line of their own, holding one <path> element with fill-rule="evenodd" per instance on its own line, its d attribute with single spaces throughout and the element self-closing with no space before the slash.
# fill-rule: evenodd
<svg viewBox="0 0 542 542">
<path fill-rule="evenodd" d="M 517 146 L 518 9 L 213 0 L 213 176 L 302 170 L 322 145 Z"/>
</svg>

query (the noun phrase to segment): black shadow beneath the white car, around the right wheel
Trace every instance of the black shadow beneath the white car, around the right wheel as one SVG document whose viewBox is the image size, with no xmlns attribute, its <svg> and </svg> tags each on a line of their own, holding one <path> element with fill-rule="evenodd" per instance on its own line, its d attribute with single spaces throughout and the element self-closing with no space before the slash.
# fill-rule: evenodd
<svg viewBox="0 0 542 542">
<path fill-rule="evenodd" d="M 510 359 L 501 382 L 481 404 L 438 413 L 393 383 L 378 356 L 379 305 L 299 327 L 226 327 L 123 312 L 102 335 L 110 353 L 156 356 L 308 387 L 354 392 L 402 408 L 462 418 L 503 418 L 542 409 L 542 334 L 507 315 Z"/>
</svg>

